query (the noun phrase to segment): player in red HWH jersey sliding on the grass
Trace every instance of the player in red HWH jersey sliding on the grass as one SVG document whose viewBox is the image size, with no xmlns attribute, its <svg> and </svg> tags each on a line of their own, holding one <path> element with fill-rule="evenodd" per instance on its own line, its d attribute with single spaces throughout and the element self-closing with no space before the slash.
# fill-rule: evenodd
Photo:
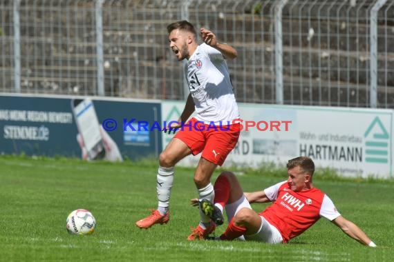
<svg viewBox="0 0 394 262">
<path fill-rule="evenodd" d="M 200 209 L 212 219 L 225 209 L 229 225 L 216 240 L 254 240 L 266 243 L 287 243 L 299 236 L 320 217 L 337 225 L 363 245 L 375 243 L 357 226 L 341 216 L 331 199 L 312 184 L 315 164 L 309 157 L 297 157 L 287 164 L 288 180 L 257 192 L 243 192 L 232 172 L 222 172 L 216 179 L 214 205 L 200 201 Z M 191 200 L 194 205 L 198 199 Z M 250 203 L 272 205 L 263 212 L 252 210 Z M 203 204 L 201 204 L 203 203 Z"/>
</svg>

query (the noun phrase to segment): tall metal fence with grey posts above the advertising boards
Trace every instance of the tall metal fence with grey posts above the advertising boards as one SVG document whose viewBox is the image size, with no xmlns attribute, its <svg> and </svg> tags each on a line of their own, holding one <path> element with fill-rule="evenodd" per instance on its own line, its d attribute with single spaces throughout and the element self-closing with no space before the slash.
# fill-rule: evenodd
<svg viewBox="0 0 394 262">
<path fill-rule="evenodd" d="M 394 108 L 393 0 L 0 0 L 0 92 L 184 99 L 168 23 L 238 50 L 238 101 Z"/>
</svg>

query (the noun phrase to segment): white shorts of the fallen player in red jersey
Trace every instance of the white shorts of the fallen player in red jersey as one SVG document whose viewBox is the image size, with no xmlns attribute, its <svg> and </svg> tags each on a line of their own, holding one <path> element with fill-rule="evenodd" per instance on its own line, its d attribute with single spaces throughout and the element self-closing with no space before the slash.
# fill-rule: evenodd
<svg viewBox="0 0 394 262">
<path fill-rule="evenodd" d="M 241 208 L 252 209 L 245 196 L 242 196 L 241 199 L 238 199 L 234 203 L 226 205 L 225 210 L 228 221 L 231 221 L 235 214 L 241 210 Z M 263 216 L 260 217 L 261 225 L 259 231 L 257 231 L 256 234 L 240 236 L 238 239 L 246 241 L 261 241 L 272 244 L 282 243 L 283 239 L 279 230 L 268 223 L 268 221 L 266 221 Z"/>
</svg>

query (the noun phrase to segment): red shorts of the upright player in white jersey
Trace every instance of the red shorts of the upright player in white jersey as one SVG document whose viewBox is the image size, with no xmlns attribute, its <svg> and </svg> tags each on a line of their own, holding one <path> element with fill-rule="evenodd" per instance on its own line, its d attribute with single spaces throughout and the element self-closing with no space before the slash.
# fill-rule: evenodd
<svg viewBox="0 0 394 262">
<path fill-rule="evenodd" d="M 174 137 L 182 140 L 191 149 L 193 155 L 203 152 L 201 157 L 216 165 L 223 165 L 227 155 L 238 142 L 241 126 L 208 125 L 194 117 L 176 133 Z"/>
</svg>

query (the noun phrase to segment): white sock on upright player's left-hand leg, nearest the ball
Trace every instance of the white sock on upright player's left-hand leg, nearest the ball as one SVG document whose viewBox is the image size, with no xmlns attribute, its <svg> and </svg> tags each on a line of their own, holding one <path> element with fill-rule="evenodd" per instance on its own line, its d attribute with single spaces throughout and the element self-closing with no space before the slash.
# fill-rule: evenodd
<svg viewBox="0 0 394 262">
<path fill-rule="evenodd" d="M 171 195 L 171 188 L 173 184 L 174 168 L 159 167 L 158 181 L 156 189 L 158 192 L 158 210 L 160 214 L 166 214 L 169 209 L 169 196 Z"/>
</svg>

